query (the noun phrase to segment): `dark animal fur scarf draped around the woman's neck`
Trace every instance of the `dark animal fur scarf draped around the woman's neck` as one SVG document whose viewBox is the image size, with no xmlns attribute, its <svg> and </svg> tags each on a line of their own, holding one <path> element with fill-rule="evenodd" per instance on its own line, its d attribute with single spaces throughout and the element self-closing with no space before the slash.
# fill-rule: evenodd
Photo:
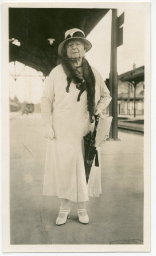
<svg viewBox="0 0 156 256">
<path fill-rule="evenodd" d="M 95 77 L 93 75 L 91 66 L 89 66 L 89 63 L 87 62 L 87 59 L 83 58 L 82 64 L 83 76 L 76 69 L 71 59 L 61 59 L 61 65 L 63 66 L 64 72 L 67 75 L 66 91 L 69 93 L 69 86 L 72 81 L 76 84 L 76 88 L 80 90 L 77 101 L 80 101 L 81 94 L 84 92 L 84 90 L 87 91 L 88 112 L 92 122 L 92 116 L 95 110 Z"/>
</svg>

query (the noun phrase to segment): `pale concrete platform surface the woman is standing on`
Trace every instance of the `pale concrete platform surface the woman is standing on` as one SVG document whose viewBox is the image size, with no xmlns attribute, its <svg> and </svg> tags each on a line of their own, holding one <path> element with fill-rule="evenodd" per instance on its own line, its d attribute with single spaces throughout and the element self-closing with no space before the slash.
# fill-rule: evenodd
<svg viewBox="0 0 156 256">
<path fill-rule="evenodd" d="M 119 132 L 102 146 L 102 194 L 87 202 L 89 223 L 76 204 L 62 226 L 56 197 L 42 196 L 46 142 L 40 114 L 10 120 L 11 244 L 142 244 L 143 136 Z"/>
</svg>

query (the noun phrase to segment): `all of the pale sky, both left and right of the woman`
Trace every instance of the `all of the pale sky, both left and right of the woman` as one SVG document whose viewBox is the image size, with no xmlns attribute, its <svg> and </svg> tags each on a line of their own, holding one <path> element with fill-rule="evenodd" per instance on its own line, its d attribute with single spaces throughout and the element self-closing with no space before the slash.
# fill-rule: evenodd
<svg viewBox="0 0 156 256">
<path fill-rule="evenodd" d="M 145 14 L 143 9 L 118 9 L 118 16 L 124 12 L 123 45 L 118 47 L 118 74 L 144 65 Z M 111 49 L 111 10 L 95 26 L 87 39 L 92 49 L 85 54 L 89 64 L 95 67 L 103 79 L 109 78 Z M 24 64 L 11 62 L 10 66 L 10 97 L 16 95 L 19 102 L 41 102 L 44 83 L 38 72 Z M 21 74 L 15 82 L 13 74 Z"/>
</svg>

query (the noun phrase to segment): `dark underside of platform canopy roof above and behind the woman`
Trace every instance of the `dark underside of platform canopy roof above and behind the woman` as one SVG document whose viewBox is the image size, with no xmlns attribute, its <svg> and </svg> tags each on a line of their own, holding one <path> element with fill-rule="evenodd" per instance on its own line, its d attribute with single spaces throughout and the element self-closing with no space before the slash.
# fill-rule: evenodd
<svg viewBox="0 0 156 256">
<path fill-rule="evenodd" d="M 9 8 L 10 62 L 17 60 L 45 76 L 49 75 L 60 63 L 57 49 L 64 40 L 65 31 L 79 28 L 87 36 L 108 10 Z M 20 42 L 20 46 L 14 44 L 14 39 Z M 54 39 L 52 45 L 48 39 Z"/>
</svg>

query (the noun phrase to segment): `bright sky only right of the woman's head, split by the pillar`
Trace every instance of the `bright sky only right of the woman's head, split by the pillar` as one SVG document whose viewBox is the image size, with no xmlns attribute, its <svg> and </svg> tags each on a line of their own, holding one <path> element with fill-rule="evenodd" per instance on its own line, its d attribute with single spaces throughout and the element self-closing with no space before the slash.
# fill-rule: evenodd
<svg viewBox="0 0 156 256">
<path fill-rule="evenodd" d="M 144 65 L 145 24 L 142 9 L 118 9 L 118 17 L 124 12 L 123 45 L 118 47 L 118 74 Z M 104 79 L 109 78 L 111 54 L 111 10 L 96 25 L 87 39 L 92 43 L 87 52 L 88 62 L 97 68 Z"/>
</svg>

